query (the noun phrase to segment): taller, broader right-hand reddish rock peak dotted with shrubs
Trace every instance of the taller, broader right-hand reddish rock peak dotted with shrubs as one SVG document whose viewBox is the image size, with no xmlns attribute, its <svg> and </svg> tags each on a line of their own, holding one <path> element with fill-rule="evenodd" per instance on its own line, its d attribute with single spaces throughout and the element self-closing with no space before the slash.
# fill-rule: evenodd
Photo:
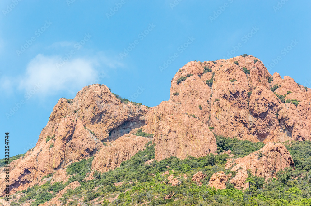
<svg viewBox="0 0 311 206">
<path fill-rule="evenodd" d="M 306 91 L 290 77 L 282 79 L 278 73 L 271 76 L 261 61 L 254 60 L 258 59 L 238 56 L 215 62 L 189 62 L 172 79 L 170 100 L 181 103 L 179 112 L 194 114 L 214 128 L 215 134 L 225 137 L 256 142 L 311 139 L 311 122 L 308 120 L 311 90 Z M 212 71 L 204 73 L 204 67 Z M 244 67 L 249 74 L 247 70 L 243 71 Z M 193 76 L 177 84 L 180 77 L 190 74 Z M 209 79 L 211 87 L 206 84 Z M 285 95 L 290 91 L 292 93 L 285 100 L 297 99 L 299 105 L 282 103 L 270 90 L 275 84 L 281 85 L 275 90 L 277 94 Z M 161 104 L 157 107 L 164 106 Z M 155 119 L 150 117 L 147 124 L 150 124 L 149 119 Z"/>
</svg>

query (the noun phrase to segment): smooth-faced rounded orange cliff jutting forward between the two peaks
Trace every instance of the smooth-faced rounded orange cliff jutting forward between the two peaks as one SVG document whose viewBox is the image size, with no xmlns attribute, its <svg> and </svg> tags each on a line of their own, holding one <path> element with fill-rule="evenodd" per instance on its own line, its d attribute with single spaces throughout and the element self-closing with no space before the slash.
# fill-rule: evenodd
<svg viewBox="0 0 311 206">
<path fill-rule="evenodd" d="M 171 100 L 150 109 L 144 129 L 154 134 L 156 160 L 170 156 L 184 159 L 187 155 L 198 158 L 217 150 L 214 134 L 208 126 L 181 112 L 181 105 Z"/>
</svg>

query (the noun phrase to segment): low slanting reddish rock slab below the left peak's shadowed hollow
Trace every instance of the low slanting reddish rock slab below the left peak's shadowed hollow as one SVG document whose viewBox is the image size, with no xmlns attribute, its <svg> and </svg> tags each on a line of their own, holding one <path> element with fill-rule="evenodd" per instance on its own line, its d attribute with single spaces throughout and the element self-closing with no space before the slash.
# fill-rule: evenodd
<svg viewBox="0 0 311 206">
<path fill-rule="evenodd" d="M 106 172 L 120 167 L 123 161 L 129 160 L 138 151 L 144 150 L 145 145 L 151 140 L 152 138 L 126 134 L 96 152 L 91 169 Z"/>
</svg>

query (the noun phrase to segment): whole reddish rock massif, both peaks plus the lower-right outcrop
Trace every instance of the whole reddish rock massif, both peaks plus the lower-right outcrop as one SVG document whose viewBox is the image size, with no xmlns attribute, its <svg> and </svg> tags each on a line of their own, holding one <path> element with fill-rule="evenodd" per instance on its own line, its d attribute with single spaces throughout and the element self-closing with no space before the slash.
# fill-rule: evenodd
<svg viewBox="0 0 311 206">
<path fill-rule="evenodd" d="M 84 87 L 74 99 L 61 98 L 36 146 L 11 162 L 11 192 L 40 184 L 44 176 L 92 156 L 93 173 L 119 167 L 151 140 L 152 135 L 136 136 L 138 128 L 153 134 L 154 158 L 159 161 L 216 154 L 215 134 L 264 143 L 311 140 L 309 88 L 290 77 L 271 75 L 253 56 L 189 62 L 176 72 L 170 93 L 168 101 L 151 108 L 128 102 L 98 84 Z M 236 177 L 243 173 L 242 179 L 256 164 L 256 173 L 273 177 L 268 170 L 293 166 L 286 151 L 281 144 L 267 144 L 262 159 L 256 159 L 258 151 L 234 160 L 243 171 L 239 166 L 232 169 Z M 228 179 L 223 176 L 213 177 L 220 179 L 221 188 Z M 1 191 L 4 177 L 1 173 Z M 237 187 L 244 183 L 230 181 Z"/>
</svg>

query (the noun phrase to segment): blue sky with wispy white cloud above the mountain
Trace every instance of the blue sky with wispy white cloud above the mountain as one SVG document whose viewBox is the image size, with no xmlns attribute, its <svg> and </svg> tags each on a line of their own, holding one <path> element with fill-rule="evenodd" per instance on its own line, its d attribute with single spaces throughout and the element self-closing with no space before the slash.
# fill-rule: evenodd
<svg viewBox="0 0 311 206">
<path fill-rule="evenodd" d="M 7 131 L 11 156 L 34 147 L 58 99 L 93 83 L 156 106 L 193 60 L 247 53 L 311 87 L 310 9 L 306 0 L 1 0 L 0 147 Z"/>
</svg>

